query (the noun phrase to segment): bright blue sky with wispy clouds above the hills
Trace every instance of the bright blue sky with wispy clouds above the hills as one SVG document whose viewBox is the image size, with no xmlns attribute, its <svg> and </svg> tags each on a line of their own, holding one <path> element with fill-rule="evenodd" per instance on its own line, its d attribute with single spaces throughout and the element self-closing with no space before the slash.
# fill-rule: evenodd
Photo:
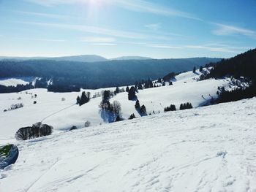
<svg viewBox="0 0 256 192">
<path fill-rule="evenodd" d="M 256 46 L 256 1 L 0 0 L 0 55 L 229 58 Z"/>
</svg>

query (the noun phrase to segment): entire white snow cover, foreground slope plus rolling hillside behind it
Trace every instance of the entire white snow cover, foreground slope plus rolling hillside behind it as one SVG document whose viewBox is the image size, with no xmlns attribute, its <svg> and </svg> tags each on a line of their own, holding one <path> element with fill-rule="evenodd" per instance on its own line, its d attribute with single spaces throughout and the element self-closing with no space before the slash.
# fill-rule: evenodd
<svg viewBox="0 0 256 192">
<path fill-rule="evenodd" d="M 127 92 L 118 93 L 110 102 L 121 103 L 126 120 L 116 123 L 102 117 L 101 96 L 79 107 L 80 93 L 0 94 L 0 144 L 20 150 L 16 163 L 0 170 L 0 189 L 255 191 L 256 98 L 200 107 L 217 96 L 219 86 L 232 86 L 229 78 L 198 81 L 200 74 L 184 72 L 173 85 L 139 90 L 140 104 L 151 116 L 140 117 Z M 116 88 L 85 91 L 94 95 L 108 89 Z M 185 102 L 195 108 L 164 112 Z M 18 103 L 23 107 L 4 112 Z M 137 118 L 127 120 L 132 113 Z M 87 120 L 91 126 L 84 128 Z M 39 121 L 53 126 L 53 134 L 14 139 L 18 128 Z M 72 126 L 78 129 L 68 131 Z"/>
</svg>

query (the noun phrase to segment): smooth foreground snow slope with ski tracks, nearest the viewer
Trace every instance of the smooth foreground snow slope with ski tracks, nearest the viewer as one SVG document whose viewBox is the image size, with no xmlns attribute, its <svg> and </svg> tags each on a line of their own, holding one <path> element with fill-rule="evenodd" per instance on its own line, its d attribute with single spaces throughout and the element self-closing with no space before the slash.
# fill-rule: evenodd
<svg viewBox="0 0 256 192">
<path fill-rule="evenodd" d="M 255 119 L 256 98 L 17 142 L 0 189 L 256 191 Z"/>
</svg>

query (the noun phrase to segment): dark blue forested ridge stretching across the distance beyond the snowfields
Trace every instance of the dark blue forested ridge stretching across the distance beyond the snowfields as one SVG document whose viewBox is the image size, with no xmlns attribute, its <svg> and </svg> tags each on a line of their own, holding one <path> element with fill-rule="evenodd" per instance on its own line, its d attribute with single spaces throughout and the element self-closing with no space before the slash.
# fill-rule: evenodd
<svg viewBox="0 0 256 192">
<path fill-rule="evenodd" d="M 58 84 L 81 88 L 129 85 L 142 79 L 157 79 L 167 72 L 190 71 L 219 58 L 151 59 L 82 63 L 74 61 L 0 61 L 0 77 L 45 77 Z"/>
</svg>

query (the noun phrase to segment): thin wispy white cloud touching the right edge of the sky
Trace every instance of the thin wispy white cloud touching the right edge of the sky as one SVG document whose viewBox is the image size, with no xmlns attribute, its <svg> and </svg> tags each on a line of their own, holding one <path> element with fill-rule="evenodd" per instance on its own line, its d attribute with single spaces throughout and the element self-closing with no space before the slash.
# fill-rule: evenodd
<svg viewBox="0 0 256 192">
<path fill-rule="evenodd" d="M 230 25 L 225 25 L 221 23 L 214 23 L 214 25 L 217 26 L 218 28 L 212 31 L 213 34 L 222 35 L 222 36 L 239 34 L 239 35 L 244 35 L 246 37 L 251 37 L 253 39 L 256 39 L 256 31 L 252 31 L 248 28 L 230 26 Z"/>
</svg>

